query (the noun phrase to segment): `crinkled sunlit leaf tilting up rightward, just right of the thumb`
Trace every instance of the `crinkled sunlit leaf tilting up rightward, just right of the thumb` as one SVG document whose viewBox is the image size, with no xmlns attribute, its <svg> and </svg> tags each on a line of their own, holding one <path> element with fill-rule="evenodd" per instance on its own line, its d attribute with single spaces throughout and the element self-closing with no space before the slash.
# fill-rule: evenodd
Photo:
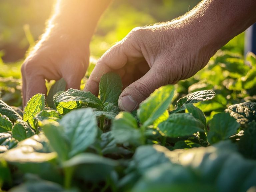
<svg viewBox="0 0 256 192">
<path fill-rule="evenodd" d="M 171 113 L 177 113 L 185 109 L 183 104 L 185 103 L 198 103 L 200 101 L 208 101 L 213 99 L 215 96 L 215 92 L 212 90 L 204 90 L 204 91 L 196 91 L 194 93 L 190 93 L 185 97 L 180 98 L 177 101 L 175 110 Z"/>
</svg>

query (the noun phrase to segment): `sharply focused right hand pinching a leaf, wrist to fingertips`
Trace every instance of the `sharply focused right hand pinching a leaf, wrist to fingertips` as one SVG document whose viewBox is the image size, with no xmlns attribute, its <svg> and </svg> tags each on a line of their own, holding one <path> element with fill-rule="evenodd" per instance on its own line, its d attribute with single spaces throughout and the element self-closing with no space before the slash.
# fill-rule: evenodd
<svg viewBox="0 0 256 192">
<path fill-rule="evenodd" d="M 136 109 L 160 86 L 193 76 L 216 52 L 195 29 L 180 23 L 133 29 L 98 60 L 84 90 L 97 95 L 100 77 L 116 71 L 125 88 L 119 108 Z"/>
</svg>

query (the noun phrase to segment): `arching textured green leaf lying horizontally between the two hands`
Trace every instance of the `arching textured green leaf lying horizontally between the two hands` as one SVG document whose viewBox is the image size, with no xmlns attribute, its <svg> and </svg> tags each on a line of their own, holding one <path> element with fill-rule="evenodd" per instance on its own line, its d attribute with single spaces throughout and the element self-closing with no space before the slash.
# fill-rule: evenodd
<svg viewBox="0 0 256 192">
<path fill-rule="evenodd" d="M 61 102 L 78 101 L 84 106 L 92 107 L 96 109 L 103 109 L 103 103 L 101 100 L 93 95 L 91 92 L 80 91 L 77 89 L 68 89 L 67 91 L 58 95 L 55 99 L 55 104 L 58 109 L 58 105 Z"/>
</svg>

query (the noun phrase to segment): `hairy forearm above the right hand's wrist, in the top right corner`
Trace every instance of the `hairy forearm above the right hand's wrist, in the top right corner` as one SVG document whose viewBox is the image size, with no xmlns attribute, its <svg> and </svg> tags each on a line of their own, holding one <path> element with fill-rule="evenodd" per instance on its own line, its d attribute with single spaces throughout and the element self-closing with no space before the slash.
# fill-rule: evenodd
<svg viewBox="0 0 256 192">
<path fill-rule="evenodd" d="M 255 7 L 255 0 L 203 0 L 186 15 L 171 23 L 193 26 L 194 37 L 200 37 L 201 47 L 214 54 L 256 22 Z"/>
</svg>

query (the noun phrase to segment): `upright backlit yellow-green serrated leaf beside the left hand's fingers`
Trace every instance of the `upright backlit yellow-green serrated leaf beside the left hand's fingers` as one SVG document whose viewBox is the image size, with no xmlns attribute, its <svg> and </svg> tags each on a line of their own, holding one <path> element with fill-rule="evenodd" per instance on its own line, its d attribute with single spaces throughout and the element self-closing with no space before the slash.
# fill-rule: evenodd
<svg viewBox="0 0 256 192">
<path fill-rule="evenodd" d="M 28 122 L 33 129 L 37 129 L 34 125 L 36 115 L 45 107 L 44 94 L 37 93 L 27 103 L 24 108 L 23 120 Z"/>
</svg>

